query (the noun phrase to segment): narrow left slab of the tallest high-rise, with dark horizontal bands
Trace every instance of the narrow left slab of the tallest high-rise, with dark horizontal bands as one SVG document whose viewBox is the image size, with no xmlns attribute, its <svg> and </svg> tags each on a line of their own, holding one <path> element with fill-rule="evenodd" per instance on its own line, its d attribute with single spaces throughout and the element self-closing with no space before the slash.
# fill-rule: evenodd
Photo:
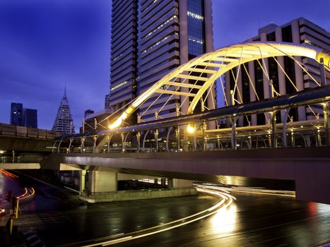
<svg viewBox="0 0 330 247">
<path fill-rule="evenodd" d="M 112 112 L 136 96 L 138 0 L 113 0 L 110 94 L 105 106 Z"/>
</svg>

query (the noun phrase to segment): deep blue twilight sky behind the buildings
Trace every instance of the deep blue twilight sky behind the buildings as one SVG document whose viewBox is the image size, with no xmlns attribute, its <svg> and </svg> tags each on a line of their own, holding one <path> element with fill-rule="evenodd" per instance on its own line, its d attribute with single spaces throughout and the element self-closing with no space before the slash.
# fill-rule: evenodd
<svg viewBox="0 0 330 247">
<path fill-rule="evenodd" d="M 189 1 L 189 0 L 188 0 Z M 110 0 L 0 0 L 0 122 L 11 102 L 52 128 L 64 86 L 78 130 L 109 89 Z M 214 47 L 257 35 L 259 25 L 305 17 L 330 31 L 329 0 L 213 0 Z"/>
</svg>

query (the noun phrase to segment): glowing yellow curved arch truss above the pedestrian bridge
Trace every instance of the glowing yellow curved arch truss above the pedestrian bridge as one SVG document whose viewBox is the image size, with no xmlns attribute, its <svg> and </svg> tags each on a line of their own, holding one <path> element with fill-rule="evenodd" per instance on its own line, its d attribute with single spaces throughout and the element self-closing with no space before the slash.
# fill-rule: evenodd
<svg viewBox="0 0 330 247">
<path fill-rule="evenodd" d="M 143 103 L 153 98 L 155 98 L 156 102 L 160 95 L 169 95 L 168 99 L 179 96 L 181 101 L 186 101 L 187 98 L 190 98 L 186 102 L 185 110 L 182 110 L 181 104 L 180 107 L 177 107 L 179 108 L 177 112 L 191 114 L 194 112 L 196 105 L 203 100 L 203 95 L 205 97 L 205 95 L 211 92 L 215 81 L 224 73 L 249 61 L 276 56 L 289 56 L 290 58 L 304 56 L 324 64 L 326 70 L 330 71 L 330 53 L 317 47 L 285 42 L 246 42 L 235 44 L 203 54 L 188 61 L 187 64 L 174 69 L 152 85 L 151 88 L 144 91 L 139 97 L 136 97 L 109 127 L 117 128 L 121 126 L 122 122 L 136 109 L 139 109 Z M 317 81 L 315 82 L 317 83 Z M 144 108 L 146 108 L 146 104 Z"/>
</svg>

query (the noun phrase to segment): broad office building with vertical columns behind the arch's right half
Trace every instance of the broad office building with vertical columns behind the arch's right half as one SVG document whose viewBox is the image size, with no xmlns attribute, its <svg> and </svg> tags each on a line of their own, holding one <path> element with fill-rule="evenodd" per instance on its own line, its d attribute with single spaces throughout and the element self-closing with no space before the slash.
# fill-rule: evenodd
<svg viewBox="0 0 330 247">
<path fill-rule="evenodd" d="M 256 37 L 252 37 L 249 41 L 293 42 L 330 50 L 330 33 L 305 18 L 297 18 L 281 26 L 271 23 L 264 28 L 260 28 L 258 33 Z M 311 76 L 320 81 L 319 64 L 316 61 L 305 57 L 295 57 L 295 59 L 307 68 Z M 317 86 L 310 76 L 302 70 L 301 66 L 288 56 L 264 59 L 263 64 L 269 74 L 269 78 L 272 80 L 273 88 L 280 95 Z M 242 102 L 257 100 L 255 92 L 257 92 L 261 100 L 271 97 L 269 80 L 264 72 L 265 69 L 261 68 L 261 61 L 251 61 L 245 67 L 247 70 L 245 71 L 244 68 L 240 69 L 237 77 L 237 89 L 241 91 Z M 247 73 L 249 73 L 249 76 Z M 230 102 L 230 90 L 234 88 L 234 76 L 236 74 L 237 68 L 233 68 L 232 71 L 228 71 L 225 74 L 225 97 L 227 102 Z M 330 80 L 329 73 L 326 77 Z M 250 83 L 250 80 L 252 83 Z M 235 100 L 240 101 L 238 96 L 235 95 Z M 323 117 L 323 109 L 321 105 L 298 107 L 291 109 L 289 115 L 293 118 L 293 121 L 310 120 L 315 119 L 317 116 Z M 283 111 L 277 113 L 277 122 L 283 122 L 284 118 L 285 114 Z M 252 125 L 262 125 L 267 123 L 267 119 L 265 114 L 254 114 L 249 116 L 249 122 Z M 247 126 L 248 124 L 246 118 L 239 119 L 240 126 Z"/>
</svg>

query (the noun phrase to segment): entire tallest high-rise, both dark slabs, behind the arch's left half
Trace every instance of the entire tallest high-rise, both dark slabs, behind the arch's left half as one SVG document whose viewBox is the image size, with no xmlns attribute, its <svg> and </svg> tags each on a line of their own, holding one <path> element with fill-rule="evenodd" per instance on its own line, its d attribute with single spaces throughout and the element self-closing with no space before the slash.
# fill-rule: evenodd
<svg viewBox="0 0 330 247">
<path fill-rule="evenodd" d="M 138 25 L 139 24 L 139 25 Z M 116 111 L 172 69 L 213 50 L 211 0 L 112 1 L 112 57 L 109 104 Z M 197 76 L 200 76 L 198 74 Z M 189 80 L 189 83 L 196 81 Z M 216 93 L 213 92 L 213 97 Z M 139 121 L 176 116 L 189 104 L 162 95 L 139 109 Z M 167 102 L 166 107 L 161 107 Z M 210 100 L 215 102 L 215 100 Z M 210 103 L 211 104 L 211 103 Z M 208 108 L 214 106 L 208 105 Z"/>
</svg>

